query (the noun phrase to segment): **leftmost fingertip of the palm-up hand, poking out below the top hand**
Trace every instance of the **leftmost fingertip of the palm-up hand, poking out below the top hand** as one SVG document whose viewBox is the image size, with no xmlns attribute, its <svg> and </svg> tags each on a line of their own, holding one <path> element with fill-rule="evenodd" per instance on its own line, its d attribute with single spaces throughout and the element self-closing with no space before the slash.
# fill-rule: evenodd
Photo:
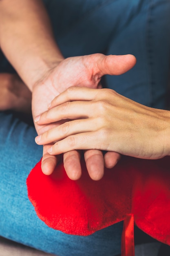
<svg viewBox="0 0 170 256">
<path fill-rule="evenodd" d="M 59 155 L 57 156 L 49 155 L 49 153 L 47 152 L 47 149 L 50 146 L 51 145 L 43 146 L 43 157 L 41 162 L 41 168 L 42 168 L 42 172 L 45 175 L 50 175 L 51 173 L 53 173 L 53 171 L 55 170 L 55 167 L 57 166 L 57 163 L 60 161 Z"/>
</svg>

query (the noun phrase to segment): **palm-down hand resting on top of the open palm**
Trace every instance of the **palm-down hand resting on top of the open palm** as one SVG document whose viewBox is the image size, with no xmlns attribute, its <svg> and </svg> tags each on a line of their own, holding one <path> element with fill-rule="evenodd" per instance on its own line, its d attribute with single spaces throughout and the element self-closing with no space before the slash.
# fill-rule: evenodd
<svg viewBox="0 0 170 256">
<path fill-rule="evenodd" d="M 110 89 L 69 88 L 38 117 L 38 124 L 75 119 L 43 133 L 38 144 L 57 141 L 48 152 L 115 151 L 157 159 L 170 154 L 170 111 L 148 108 Z"/>
</svg>

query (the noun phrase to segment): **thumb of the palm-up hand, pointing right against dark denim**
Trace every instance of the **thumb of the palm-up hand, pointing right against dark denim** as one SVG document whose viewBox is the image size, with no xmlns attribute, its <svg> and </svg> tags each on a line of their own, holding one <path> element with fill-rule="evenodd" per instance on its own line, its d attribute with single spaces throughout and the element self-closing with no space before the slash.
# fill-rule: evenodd
<svg viewBox="0 0 170 256">
<path fill-rule="evenodd" d="M 100 54 L 96 60 L 96 71 L 103 75 L 121 75 L 130 70 L 136 64 L 135 56 L 127 55 L 104 55 Z"/>
</svg>

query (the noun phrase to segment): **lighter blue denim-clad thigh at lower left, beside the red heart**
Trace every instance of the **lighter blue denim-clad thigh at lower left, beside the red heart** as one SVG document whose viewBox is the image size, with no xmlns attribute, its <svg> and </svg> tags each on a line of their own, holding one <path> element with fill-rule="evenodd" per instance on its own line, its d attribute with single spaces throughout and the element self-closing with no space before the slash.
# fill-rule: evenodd
<svg viewBox="0 0 170 256">
<path fill-rule="evenodd" d="M 0 112 L 0 236 L 58 256 L 120 253 L 122 222 L 91 236 L 71 236 L 47 227 L 28 199 L 26 177 L 40 160 L 32 126 Z"/>
</svg>

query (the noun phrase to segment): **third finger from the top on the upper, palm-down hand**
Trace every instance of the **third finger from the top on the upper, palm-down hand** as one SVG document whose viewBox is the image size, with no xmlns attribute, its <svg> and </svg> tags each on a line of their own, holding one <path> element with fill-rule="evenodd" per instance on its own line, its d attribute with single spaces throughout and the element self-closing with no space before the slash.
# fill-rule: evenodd
<svg viewBox="0 0 170 256">
<path fill-rule="evenodd" d="M 59 141 L 70 135 L 91 132 L 99 129 L 96 119 L 80 119 L 68 121 L 60 126 L 44 132 L 42 135 L 35 137 L 35 142 L 38 145 L 45 145 Z"/>
</svg>

